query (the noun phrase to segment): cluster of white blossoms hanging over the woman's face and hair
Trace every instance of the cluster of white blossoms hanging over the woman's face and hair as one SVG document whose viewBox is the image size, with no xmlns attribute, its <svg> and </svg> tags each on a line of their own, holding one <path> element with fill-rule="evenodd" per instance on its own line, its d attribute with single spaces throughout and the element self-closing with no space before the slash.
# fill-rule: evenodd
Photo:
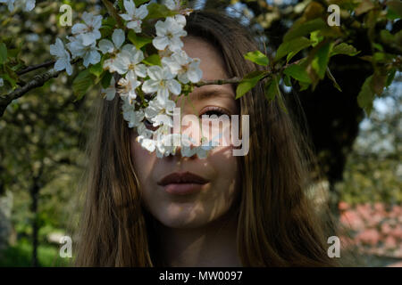
<svg viewBox="0 0 402 285">
<path fill-rule="evenodd" d="M 165 0 L 163 4 L 172 11 L 180 11 L 180 0 Z M 125 11 L 120 16 L 126 31 L 141 33 L 143 20 L 148 15 L 148 4 L 136 7 L 133 0 L 124 0 L 123 6 Z M 117 73 L 120 79 L 116 82 L 112 77 L 110 86 L 102 89 L 102 94 L 106 100 L 113 100 L 115 94 L 120 95 L 122 116 L 130 128 L 137 130 L 137 141 L 141 146 L 147 151 L 156 151 L 157 157 L 162 158 L 174 154 L 175 145 L 179 144 L 182 156 L 197 154 L 205 158 L 211 145 L 194 146 L 196 143 L 190 138 L 184 139 L 181 134 L 171 132 L 176 107 L 171 96 L 180 95 L 182 85 L 195 84 L 203 76 L 200 61 L 188 57 L 182 50 L 181 38 L 187 36 L 185 16 L 177 13 L 155 23 L 156 36 L 152 45 L 158 51 L 161 65 L 146 63 L 142 50 L 125 44 L 126 34 L 121 28 L 113 30 L 111 39 L 101 38 L 102 16 L 84 12 L 83 20 L 85 23 L 72 27 L 73 37 L 67 37 L 70 43 L 66 46 L 70 53 L 59 38 L 51 45 L 50 53 L 57 58 L 54 69 L 66 69 L 71 75 L 71 58 L 82 58 L 83 65 L 88 68 L 89 64 L 101 61 L 100 53 L 103 53 L 103 69 Z"/>
</svg>

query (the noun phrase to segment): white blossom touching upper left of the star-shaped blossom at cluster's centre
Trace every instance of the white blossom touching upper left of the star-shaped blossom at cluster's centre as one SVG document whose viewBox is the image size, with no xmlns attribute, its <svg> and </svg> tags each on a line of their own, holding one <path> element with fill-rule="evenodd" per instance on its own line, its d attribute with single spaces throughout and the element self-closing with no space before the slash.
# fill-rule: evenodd
<svg viewBox="0 0 402 285">
<path fill-rule="evenodd" d="M 147 67 L 140 62 L 144 60 L 144 53 L 134 45 L 124 45 L 121 53 L 117 55 L 113 65 L 109 69 L 119 74 L 125 74 L 129 70 L 135 72 L 138 77 L 147 77 Z"/>
</svg>

